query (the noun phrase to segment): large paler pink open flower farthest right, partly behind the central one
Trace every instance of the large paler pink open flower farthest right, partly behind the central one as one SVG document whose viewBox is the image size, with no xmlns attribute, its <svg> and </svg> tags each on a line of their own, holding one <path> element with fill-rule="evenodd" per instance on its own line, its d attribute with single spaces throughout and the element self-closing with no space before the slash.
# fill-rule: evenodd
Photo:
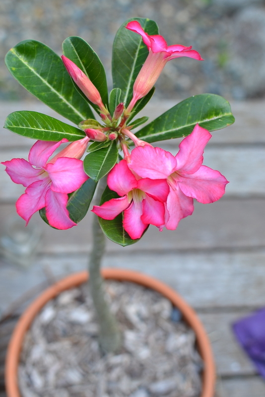
<svg viewBox="0 0 265 397">
<path fill-rule="evenodd" d="M 202 165 L 203 150 L 211 134 L 197 124 L 182 140 L 174 157 L 159 147 L 139 146 L 132 150 L 131 168 L 142 178 L 164 179 L 169 185 L 165 226 L 175 230 L 179 221 L 193 213 L 193 199 L 210 203 L 220 199 L 228 183 L 219 171 Z"/>
</svg>

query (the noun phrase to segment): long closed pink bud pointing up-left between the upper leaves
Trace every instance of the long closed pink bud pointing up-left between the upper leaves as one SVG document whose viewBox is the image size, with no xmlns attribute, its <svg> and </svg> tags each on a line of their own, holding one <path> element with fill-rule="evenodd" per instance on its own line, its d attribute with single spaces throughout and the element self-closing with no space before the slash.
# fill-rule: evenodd
<svg viewBox="0 0 265 397">
<path fill-rule="evenodd" d="M 103 105 L 98 89 L 94 86 L 94 84 L 87 77 L 87 75 L 83 73 L 82 70 L 75 65 L 75 63 L 66 58 L 64 55 L 62 55 L 62 60 L 66 66 L 67 72 L 69 73 L 73 81 L 78 85 L 80 90 L 83 91 L 89 101 L 91 101 L 95 105 L 98 105 L 101 112 L 108 113 L 107 109 Z"/>
</svg>

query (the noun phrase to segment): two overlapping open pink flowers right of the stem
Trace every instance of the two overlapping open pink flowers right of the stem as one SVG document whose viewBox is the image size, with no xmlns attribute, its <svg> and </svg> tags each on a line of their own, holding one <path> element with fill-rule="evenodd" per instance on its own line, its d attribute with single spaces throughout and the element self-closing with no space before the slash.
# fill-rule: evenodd
<svg viewBox="0 0 265 397">
<path fill-rule="evenodd" d="M 225 192 L 226 178 L 202 165 L 210 137 L 196 125 L 176 156 L 150 145 L 135 147 L 130 161 L 122 160 L 108 176 L 109 188 L 122 197 L 94 206 L 93 212 L 114 219 L 124 211 L 124 229 L 132 239 L 140 238 L 149 224 L 175 230 L 182 218 L 193 213 L 193 199 L 210 203 Z"/>
</svg>

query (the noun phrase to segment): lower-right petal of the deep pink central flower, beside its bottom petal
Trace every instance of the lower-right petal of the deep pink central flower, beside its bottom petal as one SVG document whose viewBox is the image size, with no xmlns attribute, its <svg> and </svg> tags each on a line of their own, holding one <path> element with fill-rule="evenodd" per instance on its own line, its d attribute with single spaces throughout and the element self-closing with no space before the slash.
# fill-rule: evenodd
<svg viewBox="0 0 265 397">
<path fill-rule="evenodd" d="M 148 195 L 142 200 L 142 204 L 141 221 L 144 224 L 151 224 L 157 227 L 165 224 L 165 204 L 152 199 Z"/>
</svg>

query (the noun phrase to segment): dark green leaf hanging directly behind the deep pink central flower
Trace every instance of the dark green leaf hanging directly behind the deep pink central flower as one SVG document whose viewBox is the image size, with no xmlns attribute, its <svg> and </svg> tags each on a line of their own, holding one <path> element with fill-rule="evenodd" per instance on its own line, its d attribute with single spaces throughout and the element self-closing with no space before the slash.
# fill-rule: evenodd
<svg viewBox="0 0 265 397">
<path fill-rule="evenodd" d="M 105 201 L 109 201 L 111 199 L 117 199 L 119 197 L 120 196 L 118 196 L 116 192 L 113 192 L 107 186 L 101 197 L 100 205 L 102 205 Z M 114 243 L 126 247 L 128 245 L 135 244 L 137 241 L 139 241 L 139 239 L 136 240 L 131 239 L 129 234 L 124 230 L 123 212 L 120 215 L 116 216 L 116 218 L 114 218 L 113 220 L 102 219 L 100 217 L 98 218 L 98 220 L 105 236 L 108 237 L 108 239 L 110 239 Z"/>
</svg>

